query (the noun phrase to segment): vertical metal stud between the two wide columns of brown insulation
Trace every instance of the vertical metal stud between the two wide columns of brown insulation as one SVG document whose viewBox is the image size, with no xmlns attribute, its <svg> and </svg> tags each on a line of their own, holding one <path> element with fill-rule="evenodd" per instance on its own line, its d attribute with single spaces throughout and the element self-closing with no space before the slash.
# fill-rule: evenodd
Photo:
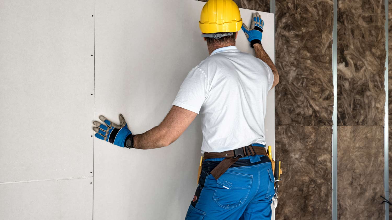
<svg viewBox="0 0 392 220">
<path fill-rule="evenodd" d="M 332 220 L 338 220 L 338 0 L 334 0 L 334 27 L 332 30 L 332 75 L 334 110 L 332 113 Z"/>
</svg>

